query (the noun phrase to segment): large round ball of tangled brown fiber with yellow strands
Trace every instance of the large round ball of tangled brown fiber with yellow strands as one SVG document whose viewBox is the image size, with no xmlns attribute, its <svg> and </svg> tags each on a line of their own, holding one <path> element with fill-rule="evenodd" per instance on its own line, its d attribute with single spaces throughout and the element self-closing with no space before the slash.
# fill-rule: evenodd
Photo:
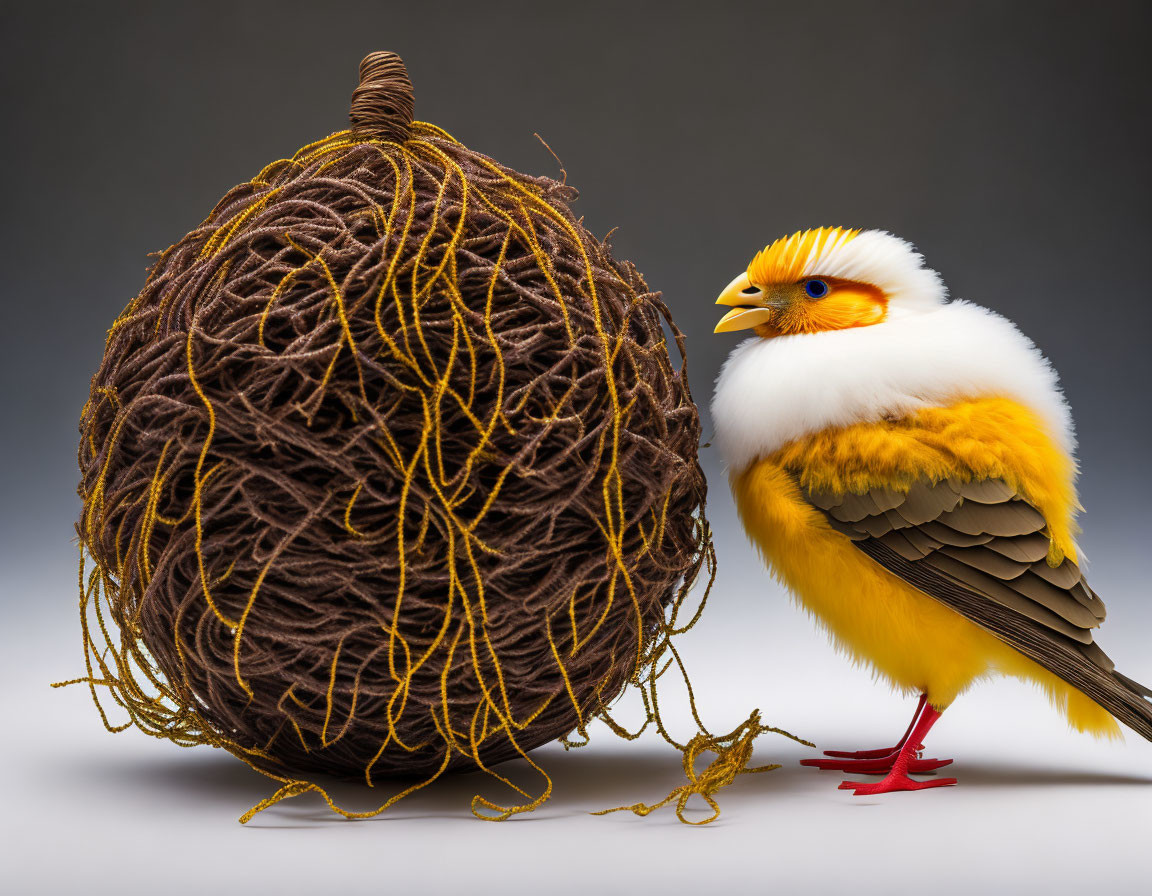
<svg viewBox="0 0 1152 896">
<path fill-rule="evenodd" d="M 637 736 L 607 712 L 629 683 L 672 739 L 655 683 L 713 569 L 659 295 L 574 190 L 412 107 L 400 59 L 366 58 L 351 130 L 160 256 L 81 420 L 78 681 L 280 781 L 245 820 L 309 790 L 374 814 L 318 773 L 412 779 L 377 811 L 453 768 L 544 775 L 528 752 L 594 717 Z M 715 808 L 763 730 L 698 735 L 718 765 L 680 807 Z M 485 818 L 551 789 L 492 774 L 523 799 Z"/>
</svg>

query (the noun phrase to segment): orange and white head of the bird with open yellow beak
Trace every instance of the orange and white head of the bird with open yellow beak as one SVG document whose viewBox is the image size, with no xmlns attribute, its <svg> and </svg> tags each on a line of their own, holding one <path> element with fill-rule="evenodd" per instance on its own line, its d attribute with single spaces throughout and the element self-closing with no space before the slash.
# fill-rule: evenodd
<svg viewBox="0 0 1152 896">
<path fill-rule="evenodd" d="M 753 329 L 771 339 L 881 324 L 938 307 L 940 275 L 903 240 L 882 230 L 820 227 L 776 240 L 717 299 L 717 333 Z"/>
</svg>

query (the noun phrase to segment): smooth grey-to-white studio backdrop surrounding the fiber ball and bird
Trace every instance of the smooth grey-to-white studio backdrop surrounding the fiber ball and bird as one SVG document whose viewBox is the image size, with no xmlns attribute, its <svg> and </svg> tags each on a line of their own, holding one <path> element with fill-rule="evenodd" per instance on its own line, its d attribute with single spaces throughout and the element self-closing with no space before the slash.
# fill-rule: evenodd
<svg viewBox="0 0 1152 896">
<path fill-rule="evenodd" d="M 698 832 L 668 818 L 585 814 L 654 798 L 679 779 L 675 754 L 605 730 L 582 753 L 550 747 L 555 799 L 507 826 L 472 821 L 467 798 L 488 785 L 457 779 L 391 820 L 333 823 L 302 798 L 265 813 L 260 829 L 240 828 L 233 819 L 267 782 L 211 751 L 105 736 L 82 691 L 46 682 L 81 673 L 76 419 L 104 331 L 142 284 L 146 252 L 179 240 L 267 161 L 344 127 L 356 66 L 377 48 L 403 55 L 417 116 L 468 145 L 556 174 L 532 134 L 551 144 L 582 189 L 576 208 L 589 227 L 619 227 L 617 253 L 664 290 L 688 333 L 703 405 L 735 344 L 711 335 L 717 291 L 797 228 L 889 229 L 920 248 L 953 295 L 1016 320 L 1060 370 L 1078 423 L 1082 544 L 1109 607 L 1100 641 L 1152 681 L 1150 12 L 1142 2 L 6 3 L 0 849 L 9 855 L 0 874 L 18 891 L 81 882 L 99 891 L 144 853 L 121 891 L 159 873 L 150 886 L 170 893 L 203 891 L 204 874 L 222 891 L 263 881 L 283 893 L 422 875 L 479 891 L 615 893 L 645 875 L 669 891 L 1140 889 L 1152 747 L 1068 734 L 1010 682 L 973 691 L 938 727 L 932 747 L 960 758 L 960 788 L 852 802 L 835 790 L 839 775 L 796 767 L 802 747 L 765 742 L 758 759 L 786 767 L 742 781 L 723 821 Z M 704 458 L 721 571 L 685 651 L 707 719 L 730 727 L 759 705 L 823 745 L 899 734 L 909 707 L 828 650 L 768 582 L 714 453 Z M 162 871 L 176 842 L 191 850 L 192 871 Z M 387 873 L 382 856 L 393 857 Z"/>
</svg>

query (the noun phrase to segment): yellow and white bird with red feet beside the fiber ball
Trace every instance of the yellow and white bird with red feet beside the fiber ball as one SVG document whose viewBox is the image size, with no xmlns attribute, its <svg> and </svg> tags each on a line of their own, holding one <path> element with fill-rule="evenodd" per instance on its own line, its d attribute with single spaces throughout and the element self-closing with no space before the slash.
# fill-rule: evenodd
<svg viewBox="0 0 1152 896">
<path fill-rule="evenodd" d="M 736 510 L 770 571 L 836 647 L 918 694 L 892 747 L 804 765 L 857 796 L 925 790 L 923 757 L 975 682 L 1032 682 L 1070 726 L 1152 741 L 1152 690 L 1094 633 L 1081 569 L 1076 440 L 1059 378 L 1007 318 L 949 301 L 884 230 L 781 237 L 720 294 L 715 333 L 751 331 L 712 398 Z"/>
</svg>

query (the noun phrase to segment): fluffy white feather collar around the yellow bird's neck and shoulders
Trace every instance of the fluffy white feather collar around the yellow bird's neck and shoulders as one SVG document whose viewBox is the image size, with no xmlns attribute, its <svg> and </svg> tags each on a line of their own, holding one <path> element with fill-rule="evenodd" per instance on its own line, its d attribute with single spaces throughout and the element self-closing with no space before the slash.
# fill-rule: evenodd
<svg viewBox="0 0 1152 896">
<path fill-rule="evenodd" d="M 848 255 L 872 233 L 878 231 L 861 234 L 839 248 L 843 273 L 832 273 L 827 266 L 814 272 L 885 288 L 879 276 L 865 273 L 874 259 Z M 887 237 L 886 248 L 887 241 L 895 240 L 880 236 Z M 903 246 L 905 261 L 919 266 L 919 256 L 907 243 Z M 1071 413 L 1047 358 L 1011 321 L 993 311 L 968 302 L 940 305 L 939 276 L 929 273 L 938 284 L 935 302 L 904 303 L 904 313 L 890 314 L 881 324 L 775 339 L 755 336 L 737 346 L 717 379 L 712 398 L 717 441 L 729 466 L 743 470 L 758 457 L 829 426 L 993 395 L 1014 398 L 1034 411 L 1071 455 L 1076 447 Z"/>
</svg>

